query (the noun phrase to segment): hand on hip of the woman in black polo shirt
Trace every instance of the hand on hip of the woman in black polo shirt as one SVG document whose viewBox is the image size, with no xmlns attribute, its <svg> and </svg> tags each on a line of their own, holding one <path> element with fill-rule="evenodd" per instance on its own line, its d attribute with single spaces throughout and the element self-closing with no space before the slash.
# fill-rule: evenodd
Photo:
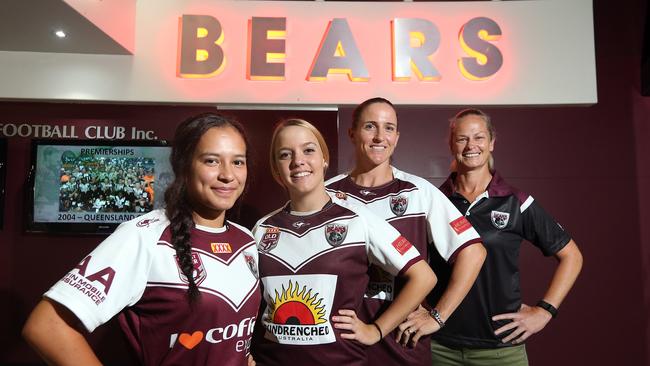
<svg viewBox="0 0 650 366">
<path fill-rule="evenodd" d="M 492 317 L 492 320 L 512 320 L 511 323 L 495 330 L 494 334 L 499 335 L 514 329 L 512 333 L 502 339 L 502 342 L 522 343 L 531 335 L 544 329 L 551 318 L 551 314 L 540 307 L 521 304 L 521 308 L 516 313 L 499 314 Z"/>
</svg>

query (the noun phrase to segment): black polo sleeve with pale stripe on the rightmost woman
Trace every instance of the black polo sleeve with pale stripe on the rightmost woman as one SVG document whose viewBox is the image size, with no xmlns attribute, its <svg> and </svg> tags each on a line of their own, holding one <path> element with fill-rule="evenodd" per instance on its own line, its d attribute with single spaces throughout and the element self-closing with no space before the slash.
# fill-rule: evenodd
<svg viewBox="0 0 650 366">
<path fill-rule="evenodd" d="M 528 196 L 520 210 L 523 237 L 538 247 L 545 256 L 559 252 L 571 240 L 571 236 L 532 196 Z"/>
</svg>

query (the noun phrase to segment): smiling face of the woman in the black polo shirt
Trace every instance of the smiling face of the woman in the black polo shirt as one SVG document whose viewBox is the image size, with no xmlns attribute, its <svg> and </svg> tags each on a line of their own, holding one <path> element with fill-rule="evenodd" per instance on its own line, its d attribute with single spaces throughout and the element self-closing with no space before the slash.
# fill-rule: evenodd
<svg viewBox="0 0 650 366">
<path fill-rule="evenodd" d="M 494 139 L 483 118 L 470 114 L 456 121 L 450 148 L 459 171 L 489 169 Z"/>
</svg>

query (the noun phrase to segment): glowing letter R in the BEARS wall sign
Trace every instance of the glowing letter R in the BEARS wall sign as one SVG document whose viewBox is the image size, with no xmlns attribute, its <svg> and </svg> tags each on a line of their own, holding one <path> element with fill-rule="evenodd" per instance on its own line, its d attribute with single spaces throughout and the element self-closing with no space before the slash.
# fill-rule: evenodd
<svg viewBox="0 0 650 366">
<path fill-rule="evenodd" d="M 420 80 L 440 80 L 438 70 L 429 60 L 440 45 L 438 27 L 424 19 L 396 18 L 391 23 L 393 80 L 410 80 L 411 70 Z"/>
</svg>

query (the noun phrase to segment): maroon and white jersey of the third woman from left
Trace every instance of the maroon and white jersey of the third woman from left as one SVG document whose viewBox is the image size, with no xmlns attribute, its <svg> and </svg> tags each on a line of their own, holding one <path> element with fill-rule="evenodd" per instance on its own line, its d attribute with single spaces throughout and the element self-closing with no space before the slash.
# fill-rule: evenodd
<svg viewBox="0 0 650 366">
<path fill-rule="evenodd" d="M 325 185 L 332 196 L 365 205 L 408 239 L 425 258 L 435 255 L 452 262 L 462 248 L 480 242 L 469 221 L 436 187 L 423 178 L 392 168 L 394 179 L 380 187 L 356 185 L 347 174 L 331 178 Z M 429 251 L 429 245 L 437 251 Z M 438 273 L 436 268 L 434 272 Z M 397 280 L 397 281 L 396 281 Z M 386 301 L 392 301 L 403 283 L 375 266 L 364 300 L 368 320 L 376 319 Z M 395 332 L 367 348 L 369 364 L 430 365 L 430 337 L 422 337 L 415 348 L 395 342 Z"/>
</svg>

